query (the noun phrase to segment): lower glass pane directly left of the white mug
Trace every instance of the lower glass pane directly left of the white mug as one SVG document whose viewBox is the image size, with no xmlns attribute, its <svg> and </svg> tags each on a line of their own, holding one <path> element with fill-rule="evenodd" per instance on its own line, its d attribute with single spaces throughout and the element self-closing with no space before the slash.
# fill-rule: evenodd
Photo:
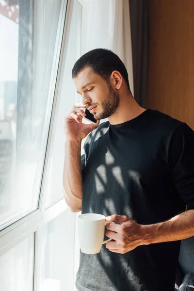
<svg viewBox="0 0 194 291">
<path fill-rule="evenodd" d="M 39 228 L 39 291 L 73 290 L 74 237 L 75 214 L 68 209 Z"/>
</svg>

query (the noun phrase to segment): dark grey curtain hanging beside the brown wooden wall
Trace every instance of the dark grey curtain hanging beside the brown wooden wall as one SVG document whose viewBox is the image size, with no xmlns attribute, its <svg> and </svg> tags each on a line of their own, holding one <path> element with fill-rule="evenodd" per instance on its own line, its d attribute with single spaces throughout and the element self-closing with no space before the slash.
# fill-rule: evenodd
<svg viewBox="0 0 194 291">
<path fill-rule="evenodd" d="M 146 107 L 149 57 L 149 0 L 129 0 L 134 98 Z"/>
</svg>

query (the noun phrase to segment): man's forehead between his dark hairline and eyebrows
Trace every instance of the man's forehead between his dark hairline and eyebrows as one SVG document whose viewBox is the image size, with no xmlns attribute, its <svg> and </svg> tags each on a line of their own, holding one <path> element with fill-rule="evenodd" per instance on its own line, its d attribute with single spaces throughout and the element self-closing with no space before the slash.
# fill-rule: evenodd
<svg viewBox="0 0 194 291">
<path fill-rule="evenodd" d="M 102 79 L 90 67 L 86 67 L 74 78 L 74 82 L 77 90 L 81 90 L 87 83 L 102 82 Z"/>
</svg>

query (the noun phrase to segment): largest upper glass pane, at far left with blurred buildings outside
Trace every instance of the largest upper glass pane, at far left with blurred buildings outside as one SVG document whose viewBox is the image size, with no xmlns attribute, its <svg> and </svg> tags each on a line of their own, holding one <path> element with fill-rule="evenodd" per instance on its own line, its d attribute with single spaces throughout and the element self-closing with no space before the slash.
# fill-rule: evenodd
<svg viewBox="0 0 194 291">
<path fill-rule="evenodd" d="M 61 0 L 0 1 L 0 226 L 35 210 Z"/>
</svg>

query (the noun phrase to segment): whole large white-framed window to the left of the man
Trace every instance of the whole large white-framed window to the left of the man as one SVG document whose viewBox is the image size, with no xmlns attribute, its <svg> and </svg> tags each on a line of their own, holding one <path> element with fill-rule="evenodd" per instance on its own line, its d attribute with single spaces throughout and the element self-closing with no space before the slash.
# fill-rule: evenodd
<svg viewBox="0 0 194 291">
<path fill-rule="evenodd" d="M 81 5 L 0 1 L 0 39 L 0 289 L 73 291 L 63 118 L 77 96 Z"/>
</svg>

